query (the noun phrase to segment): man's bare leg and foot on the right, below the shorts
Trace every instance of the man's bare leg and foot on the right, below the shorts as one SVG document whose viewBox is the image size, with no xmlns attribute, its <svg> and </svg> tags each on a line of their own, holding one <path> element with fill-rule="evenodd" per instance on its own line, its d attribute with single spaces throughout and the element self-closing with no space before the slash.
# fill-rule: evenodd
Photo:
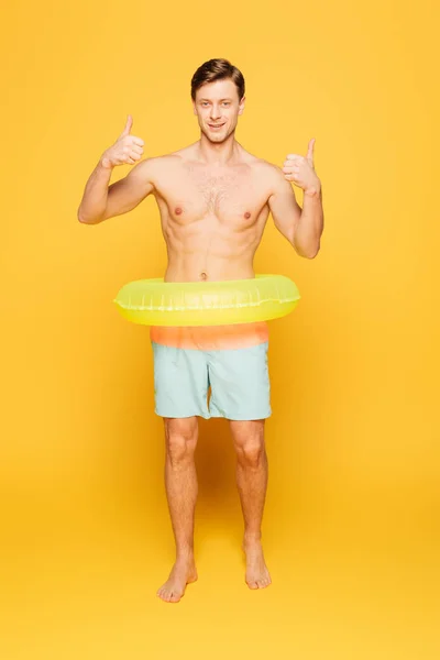
<svg viewBox="0 0 440 660">
<path fill-rule="evenodd" d="M 237 452 L 237 486 L 244 518 L 245 580 L 250 588 L 263 588 L 271 584 L 261 542 L 268 479 L 264 422 L 264 419 L 229 422 Z"/>
</svg>

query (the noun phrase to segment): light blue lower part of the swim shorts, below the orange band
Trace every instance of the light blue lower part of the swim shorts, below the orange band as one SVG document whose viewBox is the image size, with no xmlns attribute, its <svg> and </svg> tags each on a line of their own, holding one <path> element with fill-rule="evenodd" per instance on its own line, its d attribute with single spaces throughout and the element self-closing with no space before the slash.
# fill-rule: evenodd
<svg viewBox="0 0 440 660">
<path fill-rule="evenodd" d="M 268 341 L 248 348 L 211 351 L 175 348 L 154 341 L 152 348 L 156 415 L 240 420 L 271 416 Z"/>
</svg>

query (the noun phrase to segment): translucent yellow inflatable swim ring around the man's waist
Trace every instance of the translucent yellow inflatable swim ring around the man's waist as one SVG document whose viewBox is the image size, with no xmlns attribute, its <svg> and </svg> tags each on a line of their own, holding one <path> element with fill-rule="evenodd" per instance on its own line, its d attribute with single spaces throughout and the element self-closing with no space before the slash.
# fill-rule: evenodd
<svg viewBox="0 0 440 660">
<path fill-rule="evenodd" d="M 136 279 L 114 298 L 121 315 L 145 326 L 224 326 L 277 319 L 300 298 L 284 275 L 221 282 Z"/>
</svg>

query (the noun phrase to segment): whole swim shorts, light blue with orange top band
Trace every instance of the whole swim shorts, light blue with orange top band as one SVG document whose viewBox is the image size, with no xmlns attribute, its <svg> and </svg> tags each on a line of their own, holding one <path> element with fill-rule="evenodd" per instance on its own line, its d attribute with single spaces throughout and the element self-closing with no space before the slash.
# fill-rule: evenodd
<svg viewBox="0 0 440 660">
<path fill-rule="evenodd" d="M 155 413 L 233 420 L 271 416 L 265 321 L 151 328 Z"/>
</svg>

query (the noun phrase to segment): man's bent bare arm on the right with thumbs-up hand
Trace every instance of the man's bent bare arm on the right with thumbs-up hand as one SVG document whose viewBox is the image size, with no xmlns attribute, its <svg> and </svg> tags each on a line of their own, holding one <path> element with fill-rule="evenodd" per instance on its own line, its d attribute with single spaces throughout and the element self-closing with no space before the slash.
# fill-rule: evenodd
<svg viewBox="0 0 440 660">
<path fill-rule="evenodd" d="M 315 139 L 310 140 L 307 155 L 289 154 L 284 163 L 284 178 L 294 182 L 304 190 L 302 209 L 295 194 L 278 177 L 268 207 L 275 226 L 285 235 L 300 256 L 315 258 L 320 250 L 323 231 L 321 182 L 314 166 Z"/>
</svg>

